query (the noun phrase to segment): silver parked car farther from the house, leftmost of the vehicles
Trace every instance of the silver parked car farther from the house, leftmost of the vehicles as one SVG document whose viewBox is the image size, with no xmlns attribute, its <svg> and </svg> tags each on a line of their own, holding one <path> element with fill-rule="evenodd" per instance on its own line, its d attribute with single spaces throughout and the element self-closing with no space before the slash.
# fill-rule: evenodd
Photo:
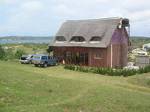
<svg viewBox="0 0 150 112">
<path fill-rule="evenodd" d="M 19 61 L 21 64 L 30 64 L 32 63 L 32 58 L 33 55 L 22 55 Z"/>
</svg>

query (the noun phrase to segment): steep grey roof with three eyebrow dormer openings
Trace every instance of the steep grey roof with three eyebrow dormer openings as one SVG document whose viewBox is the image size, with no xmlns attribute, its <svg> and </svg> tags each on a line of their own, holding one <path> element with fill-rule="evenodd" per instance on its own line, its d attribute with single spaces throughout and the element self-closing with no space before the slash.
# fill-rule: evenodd
<svg viewBox="0 0 150 112">
<path fill-rule="evenodd" d="M 107 18 L 66 21 L 56 34 L 56 36 L 64 36 L 66 38 L 66 41 L 56 42 L 56 39 L 54 39 L 50 46 L 106 48 L 109 45 L 112 35 L 121 20 L 122 18 Z M 73 36 L 82 36 L 86 41 L 84 43 L 71 43 L 70 40 Z M 90 39 L 93 36 L 100 36 L 102 40 L 99 43 L 90 43 Z"/>
</svg>

